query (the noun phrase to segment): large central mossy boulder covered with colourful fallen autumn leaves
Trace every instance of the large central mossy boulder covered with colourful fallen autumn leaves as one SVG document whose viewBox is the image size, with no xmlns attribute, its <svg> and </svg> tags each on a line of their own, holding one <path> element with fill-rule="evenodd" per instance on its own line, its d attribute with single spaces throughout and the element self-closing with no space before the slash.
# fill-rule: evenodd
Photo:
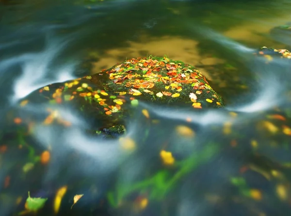
<svg viewBox="0 0 291 216">
<path fill-rule="evenodd" d="M 42 87 L 23 101 L 68 105 L 99 129 L 123 124 L 138 100 L 193 109 L 223 106 L 194 66 L 166 57 L 126 60 L 94 75 Z"/>
</svg>

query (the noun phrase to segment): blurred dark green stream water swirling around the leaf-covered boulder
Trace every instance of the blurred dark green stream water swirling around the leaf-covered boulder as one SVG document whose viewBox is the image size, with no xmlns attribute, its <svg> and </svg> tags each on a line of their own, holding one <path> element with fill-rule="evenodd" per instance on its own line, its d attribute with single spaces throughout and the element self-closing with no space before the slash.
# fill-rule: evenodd
<svg viewBox="0 0 291 216">
<path fill-rule="evenodd" d="M 28 191 L 48 198 L 43 216 L 290 215 L 291 60 L 254 55 L 291 47 L 290 34 L 270 34 L 291 21 L 290 0 L 0 3 L 0 216 L 24 211 Z M 70 126 L 48 127 L 38 116 L 50 105 L 18 105 L 49 83 L 164 54 L 202 71 L 226 107 L 140 102 L 122 139 L 102 139 L 84 133 L 91 125 L 68 107 L 54 109 Z M 37 145 L 13 133 L 12 111 L 31 119 L 23 124 L 33 123 Z M 175 166 L 162 164 L 162 150 Z"/>
</svg>

